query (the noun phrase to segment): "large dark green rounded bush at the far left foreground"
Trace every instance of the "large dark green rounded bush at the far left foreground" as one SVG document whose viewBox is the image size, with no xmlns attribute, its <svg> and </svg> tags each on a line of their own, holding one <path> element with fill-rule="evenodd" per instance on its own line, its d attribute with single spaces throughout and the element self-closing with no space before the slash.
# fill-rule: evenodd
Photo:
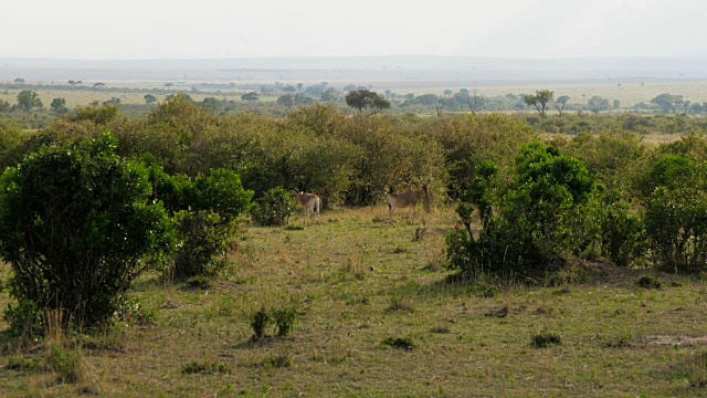
<svg viewBox="0 0 707 398">
<path fill-rule="evenodd" d="M 20 305 L 62 308 L 64 321 L 113 316 L 140 259 L 169 249 L 173 231 L 139 164 L 106 134 L 44 147 L 0 178 L 0 254 Z"/>
</svg>

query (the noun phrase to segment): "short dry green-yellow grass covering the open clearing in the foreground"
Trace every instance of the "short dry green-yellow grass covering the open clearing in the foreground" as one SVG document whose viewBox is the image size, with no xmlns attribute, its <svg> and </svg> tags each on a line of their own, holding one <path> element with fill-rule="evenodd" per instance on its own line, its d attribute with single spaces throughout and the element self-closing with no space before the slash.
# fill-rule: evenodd
<svg viewBox="0 0 707 398">
<path fill-rule="evenodd" d="M 415 241 L 423 220 L 424 239 Z M 585 270 L 591 276 L 584 284 L 505 283 L 489 292 L 488 282 L 449 282 L 450 273 L 439 266 L 454 222 L 451 209 L 420 211 L 415 220 L 395 214 L 392 222 L 379 206 L 323 212 L 320 224 L 300 230 L 246 227 L 228 273 L 207 289 L 145 275 L 131 295 L 155 313 L 154 322 L 119 324 L 65 345 L 81 355 L 81 383 L 60 383 L 55 373 L 34 366 L 42 349 L 18 352 L 6 344 L 0 391 L 8 397 L 707 394 L 703 280 L 659 274 L 663 289 L 643 289 L 636 281 L 652 273 L 594 264 Z M 7 277 L 9 266 L 1 273 Z M 7 292 L 0 294 L 0 307 L 9 301 Z M 254 313 L 293 307 L 298 316 L 292 332 L 277 335 L 271 324 L 263 338 L 252 339 Z"/>
</svg>

